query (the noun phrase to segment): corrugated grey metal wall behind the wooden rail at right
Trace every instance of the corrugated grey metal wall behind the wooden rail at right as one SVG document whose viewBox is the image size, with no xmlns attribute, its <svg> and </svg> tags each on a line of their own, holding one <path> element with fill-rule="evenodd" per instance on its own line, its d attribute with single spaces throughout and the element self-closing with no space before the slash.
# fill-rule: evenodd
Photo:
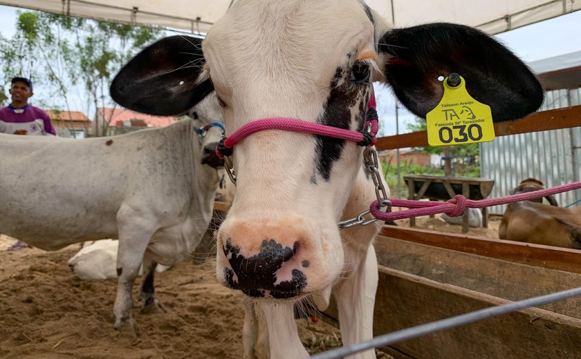
<svg viewBox="0 0 581 359">
<path fill-rule="evenodd" d="M 581 104 L 581 88 L 555 90 L 546 94 L 541 110 Z M 581 119 L 579 119 L 581 126 Z M 492 178 L 490 197 L 508 195 L 528 177 L 540 179 L 548 187 L 581 180 L 581 127 L 497 137 L 480 145 L 481 177 Z M 581 199 L 581 191 L 555 195 L 560 206 Z M 488 208 L 504 213 L 506 206 Z"/>
</svg>

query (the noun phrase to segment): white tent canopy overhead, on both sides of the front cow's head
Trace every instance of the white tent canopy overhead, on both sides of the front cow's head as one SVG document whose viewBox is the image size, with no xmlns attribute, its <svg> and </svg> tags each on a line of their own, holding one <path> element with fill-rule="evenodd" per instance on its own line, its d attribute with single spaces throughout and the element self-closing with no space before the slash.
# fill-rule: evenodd
<svg viewBox="0 0 581 359">
<path fill-rule="evenodd" d="M 0 4 L 92 19 L 205 33 L 234 0 L 0 0 Z M 581 10 L 575 0 L 367 0 L 395 26 L 463 23 L 497 34 Z"/>
</svg>

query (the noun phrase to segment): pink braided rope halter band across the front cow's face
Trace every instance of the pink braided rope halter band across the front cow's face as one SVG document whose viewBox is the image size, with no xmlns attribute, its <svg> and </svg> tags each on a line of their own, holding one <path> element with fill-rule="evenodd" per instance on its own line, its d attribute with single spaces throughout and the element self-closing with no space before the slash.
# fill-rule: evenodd
<svg viewBox="0 0 581 359">
<path fill-rule="evenodd" d="M 366 130 L 368 126 L 369 130 Z M 367 114 L 365 115 L 365 124 L 361 131 L 345 130 L 333 126 L 313 124 L 313 122 L 306 122 L 301 119 L 270 117 L 250 122 L 236 130 L 232 135 L 222 139 L 219 146 L 216 147 L 216 155 L 219 157 L 228 157 L 232 155 L 232 148 L 235 144 L 241 142 L 249 135 L 252 135 L 252 133 L 257 133 L 262 130 L 290 130 L 312 133 L 313 135 L 346 139 L 347 141 L 357 142 L 360 146 L 373 146 L 376 143 L 376 136 L 379 130 L 375 94 L 372 91 L 371 97 L 369 97 Z"/>
</svg>

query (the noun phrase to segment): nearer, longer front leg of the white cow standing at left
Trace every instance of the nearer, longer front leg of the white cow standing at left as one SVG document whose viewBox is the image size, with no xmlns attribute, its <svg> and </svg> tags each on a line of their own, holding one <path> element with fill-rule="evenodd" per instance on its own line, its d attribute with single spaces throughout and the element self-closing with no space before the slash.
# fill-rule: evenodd
<svg viewBox="0 0 581 359">
<path fill-rule="evenodd" d="M 138 220 L 138 217 L 133 217 L 133 219 L 126 221 L 120 220 L 119 217 L 118 282 L 117 296 L 113 307 L 115 329 L 128 329 L 135 333 L 131 289 L 143 262 L 145 249 L 147 249 L 147 244 L 149 244 L 155 229 L 148 226 L 147 221 Z M 130 217 L 129 215 L 125 218 Z"/>
</svg>

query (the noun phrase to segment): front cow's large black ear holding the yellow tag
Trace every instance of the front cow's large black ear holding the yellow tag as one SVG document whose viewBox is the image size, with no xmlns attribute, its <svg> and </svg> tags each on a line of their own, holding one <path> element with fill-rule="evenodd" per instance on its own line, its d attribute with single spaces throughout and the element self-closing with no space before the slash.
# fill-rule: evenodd
<svg viewBox="0 0 581 359">
<path fill-rule="evenodd" d="M 495 122 L 519 119 L 543 101 L 541 84 L 510 50 L 480 30 L 430 23 L 385 32 L 379 63 L 394 93 L 425 117 L 443 95 L 439 77 L 458 72 L 474 99 L 488 104 Z"/>
</svg>

